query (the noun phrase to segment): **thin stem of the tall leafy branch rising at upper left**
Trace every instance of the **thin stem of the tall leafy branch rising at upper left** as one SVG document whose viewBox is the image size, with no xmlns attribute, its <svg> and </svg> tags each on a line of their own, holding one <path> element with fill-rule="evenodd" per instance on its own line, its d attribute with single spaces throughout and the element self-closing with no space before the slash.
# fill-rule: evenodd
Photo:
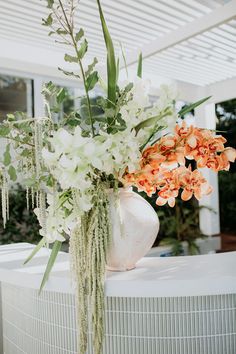
<svg viewBox="0 0 236 354">
<path fill-rule="evenodd" d="M 59 0 L 59 4 L 60 4 L 61 10 L 63 12 L 64 18 L 66 20 L 66 23 L 67 23 L 67 26 L 68 26 L 68 32 L 69 32 L 69 34 L 71 36 L 71 39 L 72 39 L 72 42 L 73 42 L 73 46 L 75 48 L 75 52 L 76 52 L 76 55 L 77 55 L 77 58 L 78 58 L 78 63 L 79 63 L 79 66 L 80 66 L 80 70 L 81 70 L 81 74 L 82 74 L 82 78 L 83 78 L 83 83 L 84 83 L 86 100 L 87 100 L 87 104 L 88 104 L 89 120 L 90 120 L 90 125 L 91 125 L 92 136 L 94 137 L 95 136 L 95 132 L 94 132 L 94 127 L 93 127 L 92 109 L 91 109 L 89 93 L 88 93 L 88 89 L 87 89 L 87 85 L 86 85 L 86 78 L 85 78 L 84 68 L 83 68 L 83 65 L 82 65 L 82 61 L 79 58 L 79 50 L 78 50 L 77 43 L 76 43 L 76 40 L 75 40 L 75 37 L 74 37 L 73 28 L 70 25 L 70 22 L 69 22 L 69 20 L 67 18 L 67 15 L 66 15 L 66 12 L 65 12 L 65 9 L 63 7 L 63 4 L 62 4 L 61 0 Z"/>
</svg>

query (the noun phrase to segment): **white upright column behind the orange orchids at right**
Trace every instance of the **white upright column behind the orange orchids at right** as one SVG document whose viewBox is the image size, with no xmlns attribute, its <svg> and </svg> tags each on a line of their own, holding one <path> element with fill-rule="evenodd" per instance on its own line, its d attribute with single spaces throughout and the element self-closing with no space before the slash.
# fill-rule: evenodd
<svg viewBox="0 0 236 354">
<path fill-rule="evenodd" d="M 200 106 L 195 110 L 196 125 L 200 128 L 216 129 L 215 104 L 210 103 Z M 200 210 L 200 229 L 203 234 L 211 236 L 220 233 L 220 211 L 219 211 L 219 188 L 217 173 L 208 168 L 201 169 L 203 176 L 213 187 L 213 192 L 204 196 L 199 202 Z"/>
</svg>

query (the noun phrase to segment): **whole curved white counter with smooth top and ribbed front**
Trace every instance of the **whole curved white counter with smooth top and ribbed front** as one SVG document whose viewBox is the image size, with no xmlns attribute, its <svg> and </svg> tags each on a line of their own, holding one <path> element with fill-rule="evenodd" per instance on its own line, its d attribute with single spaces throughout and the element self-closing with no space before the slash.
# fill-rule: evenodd
<svg viewBox="0 0 236 354">
<path fill-rule="evenodd" d="M 68 254 L 39 297 L 50 251 L 23 266 L 31 250 L 0 247 L 4 353 L 76 354 Z M 106 296 L 104 354 L 236 353 L 236 252 L 143 258 L 132 271 L 107 273 Z"/>
</svg>

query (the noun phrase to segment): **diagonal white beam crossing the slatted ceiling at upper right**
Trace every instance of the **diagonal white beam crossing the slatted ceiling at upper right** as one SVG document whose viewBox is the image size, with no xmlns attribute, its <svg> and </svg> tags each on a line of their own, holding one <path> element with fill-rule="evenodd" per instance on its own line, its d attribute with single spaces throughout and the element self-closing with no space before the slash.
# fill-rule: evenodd
<svg viewBox="0 0 236 354">
<path fill-rule="evenodd" d="M 197 36 L 200 33 L 210 30 L 213 27 L 233 19 L 236 15 L 236 0 L 232 0 L 224 6 L 221 6 L 207 15 L 180 27 L 176 31 L 172 31 L 161 38 L 151 41 L 139 50 L 132 52 L 127 56 L 127 65 L 137 62 L 138 54 L 142 51 L 143 58 L 148 58 L 163 50 L 166 50 L 178 43 L 188 40 L 191 37 Z"/>
</svg>

